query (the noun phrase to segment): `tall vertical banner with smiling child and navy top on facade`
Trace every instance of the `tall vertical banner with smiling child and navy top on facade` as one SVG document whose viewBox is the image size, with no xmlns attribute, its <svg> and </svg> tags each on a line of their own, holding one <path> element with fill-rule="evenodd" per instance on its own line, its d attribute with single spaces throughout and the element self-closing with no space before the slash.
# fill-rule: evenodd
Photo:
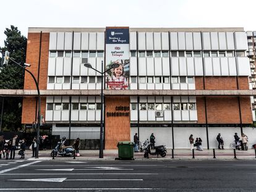
<svg viewBox="0 0 256 192">
<path fill-rule="evenodd" d="M 128 90 L 130 80 L 129 28 L 106 27 L 106 70 L 112 64 L 119 67 L 106 73 L 106 89 Z"/>
</svg>

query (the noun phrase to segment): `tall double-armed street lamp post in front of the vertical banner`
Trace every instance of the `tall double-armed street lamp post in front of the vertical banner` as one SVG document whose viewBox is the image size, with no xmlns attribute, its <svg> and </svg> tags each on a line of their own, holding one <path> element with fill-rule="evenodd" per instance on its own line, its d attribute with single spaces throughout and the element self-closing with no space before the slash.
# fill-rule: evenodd
<svg viewBox="0 0 256 192">
<path fill-rule="evenodd" d="M 96 69 L 94 69 L 92 67 L 92 65 L 89 64 L 89 63 L 84 64 L 84 65 L 85 65 L 85 67 L 88 67 L 89 69 L 93 69 L 96 72 L 101 74 L 101 94 L 100 94 L 100 96 L 101 96 L 101 98 L 100 98 L 100 101 L 101 101 L 101 108 L 100 108 L 100 155 L 99 155 L 99 157 L 103 158 L 103 82 L 104 82 L 103 81 L 103 77 L 104 77 L 104 74 L 106 72 L 108 72 L 109 70 L 115 69 L 115 68 L 119 67 L 119 64 L 112 64 L 111 67 L 108 70 L 106 70 L 105 72 L 103 72 L 103 61 L 101 61 L 101 72 L 96 70 Z"/>
</svg>

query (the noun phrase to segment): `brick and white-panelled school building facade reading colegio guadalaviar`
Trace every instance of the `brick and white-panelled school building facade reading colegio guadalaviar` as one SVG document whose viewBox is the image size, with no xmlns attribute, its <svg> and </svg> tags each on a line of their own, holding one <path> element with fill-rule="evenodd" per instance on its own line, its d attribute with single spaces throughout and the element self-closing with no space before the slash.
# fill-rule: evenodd
<svg viewBox="0 0 256 192">
<path fill-rule="evenodd" d="M 140 141 L 154 133 L 156 145 L 176 149 L 189 148 L 190 134 L 216 148 L 221 133 L 229 148 L 234 133 L 256 143 L 247 39 L 243 28 L 29 28 L 26 62 L 39 82 L 43 126 L 52 131 L 100 131 L 101 74 L 84 64 L 101 72 L 103 61 L 106 70 L 111 52 L 111 61 L 128 54 L 128 88 L 110 89 L 104 78 L 105 149 L 135 133 Z M 36 86 L 26 72 L 28 90 Z M 22 123 L 35 122 L 37 108 L 36 95 L 24 97 Z"/>
</svg>

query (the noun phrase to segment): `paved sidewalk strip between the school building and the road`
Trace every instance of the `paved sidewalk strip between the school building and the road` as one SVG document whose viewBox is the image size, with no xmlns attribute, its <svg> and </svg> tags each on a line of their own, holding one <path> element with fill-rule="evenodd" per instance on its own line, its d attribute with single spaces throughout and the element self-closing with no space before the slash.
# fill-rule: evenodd
<svg viewBox="0 0 256 192">
<path fill-rule="evenodd" d="M 106 149 L 104 150 L 104 158 L 100 159 L 99 150 L 79 150 L 80 157 L 75 157 L 76 160 L 108 160 L 113 161 L 116 157 L 118 157 L 118 150 L 117 149 Z M 39 151 L 39 158 L 43 160 L 50 160 L 52 159 L 51 150 L 46 151 Z M 205 149 L 204 151 L 194 151 L 195 159 L 213 159 L 213 149 Z M 143 152 L 134 152 L 134 159 L 135 160 L 148 160 L 144 158 Z M 32 156 L 32 150 L 27 150 L 25 152 L 25 157 L 30 158 Z M 234 159 L 234 150 L 233 149 L 215 149 L 215 156 L 216 159 L 226 159 L 226 160 L 233 160 Z M 255 159 L 255 150 L 249 149 L 248 151 L 239 151 L 236 150 L 236 157 L 237 159 L 243 160 L 252 160 Z M 33 160 L 34 158 L 30 158 L 29 160 Z M 73 157 L 55 157 L 56 160 L 70 160 Z M 172 150 L 167 149 L 166 157 L 157 157 L 157 156 L 149 156 L 149 159 L 153 160 L 171 160 L 172 159 Z M 189 149 L 174 149 L 174 159 L 192 159 L 192 151 Z"/>
</svg>

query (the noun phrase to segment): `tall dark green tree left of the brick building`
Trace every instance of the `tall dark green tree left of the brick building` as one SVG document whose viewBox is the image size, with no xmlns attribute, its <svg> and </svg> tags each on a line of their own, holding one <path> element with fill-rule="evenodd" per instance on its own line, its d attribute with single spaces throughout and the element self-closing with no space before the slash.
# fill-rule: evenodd
<svg viewBox="0 0 256 192">
<path fill-rule="evenodd" d="M 17 27 L 11 25 L 4 31 L 6 40 L 4 47 L 0 51 L 10 52 L 10 57 L 23 64 L 26 59 L 27 38 L 21 35 Z M 0 68 L 0 89 L 22 90 L 24 83 L 24 70 L 9 61 L 7 65 Z M 17 130 L 21 127 L 22 98 L 5 98 L 4 115 L 2 119 L 2 128 L 7 130 Z"/>
</svg>

